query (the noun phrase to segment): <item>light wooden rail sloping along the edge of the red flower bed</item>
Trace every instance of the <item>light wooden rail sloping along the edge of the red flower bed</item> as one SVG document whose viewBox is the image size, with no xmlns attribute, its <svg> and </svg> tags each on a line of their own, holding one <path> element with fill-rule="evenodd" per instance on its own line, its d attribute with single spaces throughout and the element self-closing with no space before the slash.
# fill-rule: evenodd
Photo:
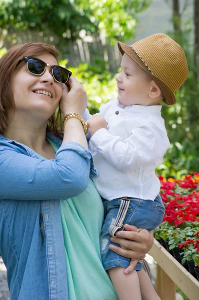
<svg viewBox="0 0 199 300">
<path fill-rule="evenodd" d="M 197 281 L 164 247 L 154 239 L 149 254 L 190 300 L 198 300 Z"/>
</svg>

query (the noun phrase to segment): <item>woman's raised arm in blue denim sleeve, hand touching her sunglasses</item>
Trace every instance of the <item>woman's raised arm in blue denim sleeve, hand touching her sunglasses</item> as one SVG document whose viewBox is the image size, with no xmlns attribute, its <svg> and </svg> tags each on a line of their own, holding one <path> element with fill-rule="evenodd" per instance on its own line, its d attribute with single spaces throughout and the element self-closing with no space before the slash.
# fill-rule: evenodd
<svg viewBox="0 0 199 300">
<path fill-rule="evenodd" d="M 63 114 L 74 111 L 82 115 L 87 102 L 85 90 L 75 78 L 70 78 L 69 84 L 69 92 L 63 85 L 60 109 Z M 66 122 L 55 159 L 36 159 L 20 144 L 18 151 L 16 144 L 0 144 L 0 199 L 69 198 L 87 187 L 91 155 L 86 150 L 87 140 L 78 119 Z"/>
</svg>

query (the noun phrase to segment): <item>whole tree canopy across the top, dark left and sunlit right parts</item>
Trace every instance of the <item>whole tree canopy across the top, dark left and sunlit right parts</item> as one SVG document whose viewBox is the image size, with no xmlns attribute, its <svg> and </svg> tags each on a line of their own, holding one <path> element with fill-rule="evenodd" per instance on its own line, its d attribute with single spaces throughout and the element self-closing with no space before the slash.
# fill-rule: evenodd
<svg viewBox="0 0 199 300">
<path fill-rule="evenodd" d="M 17 31 L 37 30 L 43 36 L 49 31 L 58 36 L 58 45 L 87 34 L 103 33 L 108 41 L 132 37 L 136 13 L 146 9 L 149 0 L 0 0 L 0 33 L 12 40 Z"/>
</svg>

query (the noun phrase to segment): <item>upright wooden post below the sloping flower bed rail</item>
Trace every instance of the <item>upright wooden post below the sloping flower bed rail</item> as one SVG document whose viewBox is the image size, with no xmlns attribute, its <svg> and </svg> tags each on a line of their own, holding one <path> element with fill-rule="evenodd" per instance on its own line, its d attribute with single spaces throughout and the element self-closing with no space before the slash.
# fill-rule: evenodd
<svg viewBox="0 0 199 300">
<path fill-rule="evenodd" d="M 175 300 L 175 283 L 157 264 L 156 292 L 161 300 Z"/>
</svg>

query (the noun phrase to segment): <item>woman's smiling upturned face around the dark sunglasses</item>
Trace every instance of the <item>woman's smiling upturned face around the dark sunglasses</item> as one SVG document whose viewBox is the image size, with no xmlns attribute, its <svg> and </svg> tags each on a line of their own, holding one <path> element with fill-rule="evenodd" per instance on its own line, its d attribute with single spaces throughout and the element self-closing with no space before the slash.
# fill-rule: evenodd
<svg viewBox="0 0 199 300">
<path fill-rule="evenodd" d="M 53 55 L 47 53 L 37 58 L 50 65 L 57 64 Z M 15 103 L 15 114 L 23 113 L 33 117 L 48 119 L 55 111 L 62 95 L 62 85 L 54 81 L 50 66 L 46 66 L 42 75 L 31 74 L 22 60 L 14 70 L 11 87 Z"/>
</svg>

